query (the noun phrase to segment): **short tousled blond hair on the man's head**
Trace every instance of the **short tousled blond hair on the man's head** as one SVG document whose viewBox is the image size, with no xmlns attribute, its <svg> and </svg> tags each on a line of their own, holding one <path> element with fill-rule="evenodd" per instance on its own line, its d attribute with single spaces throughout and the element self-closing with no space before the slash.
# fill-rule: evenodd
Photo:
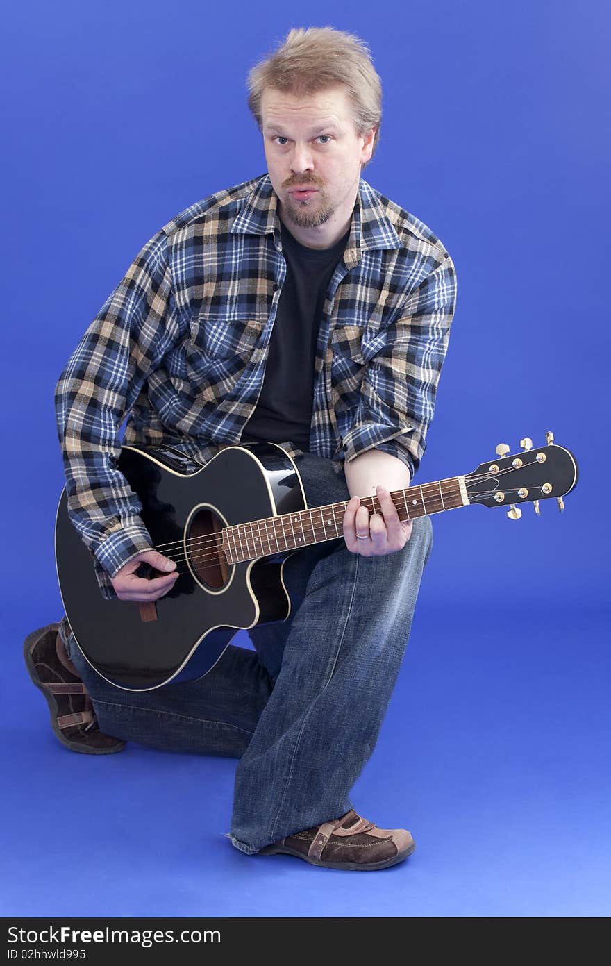
<svg viewBox="0 0 611 966">
<path fill-rule="evenodd" d="M 365 41 L 333 27 L 295 28 L 271 56 L 248 73 L 248 106 L 261 130 L 261 100 L 272 87 L 297 97 L 341 84 L 353 108 L 359 137 L 375 130 L 374 154 L 382 118 L 382 85 Z M 364 167 L 365 165 L 363 165 Z"/>
</svg>

